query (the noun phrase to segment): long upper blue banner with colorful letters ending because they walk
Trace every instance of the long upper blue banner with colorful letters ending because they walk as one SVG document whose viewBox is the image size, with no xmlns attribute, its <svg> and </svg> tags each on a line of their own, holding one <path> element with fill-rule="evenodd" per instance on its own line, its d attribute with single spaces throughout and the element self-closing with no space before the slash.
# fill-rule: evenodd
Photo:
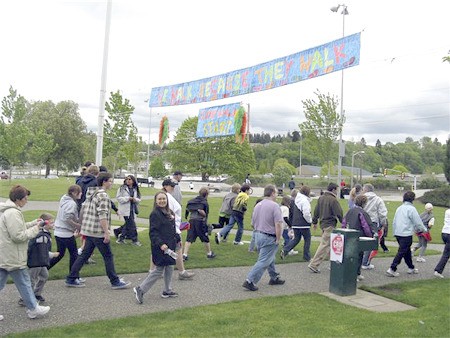
<svg viewBox="0 0 450 338">
<path fill-rule="evenodd" d="M 359 64 L 361 33 L 213 77 L 152 88 L 150 107 L 220 100 L 268 90 Z"/>
</svg>

